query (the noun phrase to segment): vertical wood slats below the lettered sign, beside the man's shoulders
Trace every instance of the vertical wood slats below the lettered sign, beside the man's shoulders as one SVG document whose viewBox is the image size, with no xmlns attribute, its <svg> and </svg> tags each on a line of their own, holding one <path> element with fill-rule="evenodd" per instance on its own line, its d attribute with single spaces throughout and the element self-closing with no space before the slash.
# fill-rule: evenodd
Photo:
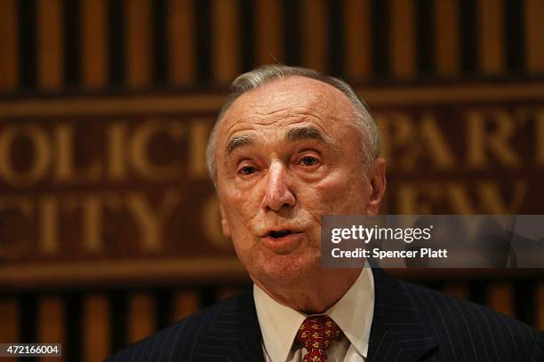
<svg viewBox="0 0 544 362">
<path fill-rule="evenodd" d="M 544 329 L 538 279 L 422 281 Z M 0 295 L 0 341 L 61 342 L 63 360 L 101 361 L 114 350 L 171 325 L 243 286 L 116 289 Z M 52 360 L 42 358 L 42 361 Z"/>
</svg>

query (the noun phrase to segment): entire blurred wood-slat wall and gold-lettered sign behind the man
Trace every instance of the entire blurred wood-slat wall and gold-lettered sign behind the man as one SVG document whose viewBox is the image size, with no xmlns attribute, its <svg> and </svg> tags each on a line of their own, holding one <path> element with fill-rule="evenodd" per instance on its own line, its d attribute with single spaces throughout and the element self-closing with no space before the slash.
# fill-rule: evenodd
<svg viewBox="0 0 544 362">
<path fill-rule="evenodd" d="M 367 101 L 383 213 L 542 214 L 543 19 L 543 0 L 0 1 L 0 342 L 98 361 L 248 282 L 204 148 L 261 64 Z M 544 327 L 541 270 L 390 272 Z"/>
</svg>

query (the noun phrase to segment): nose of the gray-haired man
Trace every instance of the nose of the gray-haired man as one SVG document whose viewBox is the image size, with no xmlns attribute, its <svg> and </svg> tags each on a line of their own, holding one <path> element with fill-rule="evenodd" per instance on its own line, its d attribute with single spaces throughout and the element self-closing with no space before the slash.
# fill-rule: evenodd
<svg viewBox="0 0 544 362">
<path fill-rule="evenodd" d="M 289 186 L 289 175 L 284 165 L 274 161 L 268 169 L 267 185 L 261 208 L 265 210 L 280 211 L 283 208 L 290 209 L 295 204 L 295 196 Z"/>
</svg>

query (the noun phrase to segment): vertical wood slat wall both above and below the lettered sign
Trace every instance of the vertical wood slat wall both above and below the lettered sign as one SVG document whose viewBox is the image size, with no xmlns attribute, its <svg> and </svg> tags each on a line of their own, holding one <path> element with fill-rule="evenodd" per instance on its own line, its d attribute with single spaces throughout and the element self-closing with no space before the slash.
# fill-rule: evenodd
<svg viewBox="0 0 544 362">
<path fill-rule="evenodd" d="M 543 19 L 543 0 L 2 0 L 0 97 L 214 89 L 269 63 L 352 84 L 528 78 Z M 4 293 L 0 342 L 100 361 L 239 287 Z M 541 279 L 431 287 L 544 328 Z"/>
</svg>

